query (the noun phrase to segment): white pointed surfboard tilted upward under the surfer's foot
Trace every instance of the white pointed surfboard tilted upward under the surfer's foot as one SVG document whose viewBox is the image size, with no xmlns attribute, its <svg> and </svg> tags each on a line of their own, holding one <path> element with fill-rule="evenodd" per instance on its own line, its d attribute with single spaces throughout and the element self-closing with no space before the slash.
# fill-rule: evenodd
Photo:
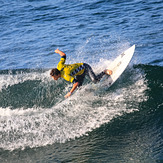
<svg viewBox="0 0 163 163">
<path fill-rule="evenodd" d="M 113 74 L 108 78 L 108 85 L 111 86 L 124 72 L 128 64 L 130 63 L 135 51 L 135 45 L 125 50 L 107 67 L 112 70 Z"/>
</svg>

